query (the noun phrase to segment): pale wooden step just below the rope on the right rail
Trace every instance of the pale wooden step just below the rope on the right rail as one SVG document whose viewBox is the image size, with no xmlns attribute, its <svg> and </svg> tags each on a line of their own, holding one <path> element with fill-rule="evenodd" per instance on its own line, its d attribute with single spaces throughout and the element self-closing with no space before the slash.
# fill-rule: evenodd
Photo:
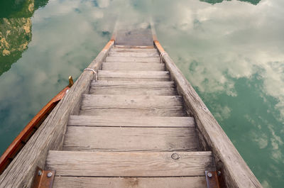
<svg viewBox="0 0 284 188">
<path fill-rule="evenodd" d="M 144 62 L 103 62 L 102 70 L 165 71 L 165 64 Z"/>
</svg>

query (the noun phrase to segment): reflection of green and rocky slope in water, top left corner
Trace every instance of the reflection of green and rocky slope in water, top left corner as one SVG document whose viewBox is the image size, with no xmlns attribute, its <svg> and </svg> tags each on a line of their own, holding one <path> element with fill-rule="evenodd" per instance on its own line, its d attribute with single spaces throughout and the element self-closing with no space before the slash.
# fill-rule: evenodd
<svg viewBox="0 0 284 188">
<path fill-rule="evenodd" d="M 21 58 L 31 42 L 31 16 L 48 0 L 0 1 L 0 76 Z"/>
</svg>

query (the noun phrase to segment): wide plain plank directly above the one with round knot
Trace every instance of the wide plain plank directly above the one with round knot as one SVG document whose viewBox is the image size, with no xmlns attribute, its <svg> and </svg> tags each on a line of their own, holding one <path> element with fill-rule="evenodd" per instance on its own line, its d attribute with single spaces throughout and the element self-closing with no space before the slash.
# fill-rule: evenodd
<svg viewBox="0 0 284 188">
<path fill-rule="evenodd" d="M 197 150 L 195 128 L 68 126 L 63 150 Z"/>
</svg>

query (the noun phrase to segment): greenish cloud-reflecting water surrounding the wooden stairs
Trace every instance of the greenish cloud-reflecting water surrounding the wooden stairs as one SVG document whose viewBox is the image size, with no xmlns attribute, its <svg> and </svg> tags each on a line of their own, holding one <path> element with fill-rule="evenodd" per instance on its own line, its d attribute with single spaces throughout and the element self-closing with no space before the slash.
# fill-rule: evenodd
<svg viewBox="0 0 284 188">
<path fill-rule="evenodd" d="M 0 0 L 0 153 L 97 56 L 117 18 L 127 26 L 152 17 L 263 187 L 283 187 L 283 8 L 283 0 Z"/>
</svg>

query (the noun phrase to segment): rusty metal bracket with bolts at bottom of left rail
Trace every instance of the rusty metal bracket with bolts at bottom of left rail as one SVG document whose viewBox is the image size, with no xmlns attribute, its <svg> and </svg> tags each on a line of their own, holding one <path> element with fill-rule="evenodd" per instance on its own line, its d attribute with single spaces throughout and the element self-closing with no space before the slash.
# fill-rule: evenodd
<svg viewBox="0 0 284 188">
<path fill-rule="evenodd" d="M 32 188 L 52 188 L 54 177 L 54 170 L 42 170 L 40 167 L 36 167 Z"/>
</svg>

